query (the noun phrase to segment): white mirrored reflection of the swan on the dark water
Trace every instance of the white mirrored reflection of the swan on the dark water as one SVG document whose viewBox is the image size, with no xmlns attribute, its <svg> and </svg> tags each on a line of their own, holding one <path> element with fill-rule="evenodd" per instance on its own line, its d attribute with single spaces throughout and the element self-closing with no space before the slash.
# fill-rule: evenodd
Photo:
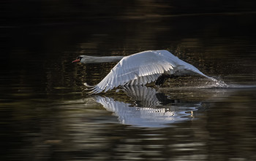
<svg viewBox="0 0 256 161">
<path fill-rule="evenodd" d="M 179 103 L 168 99 L 163 93 L 157 93 L 154 88 L 124 87 L 124 92 L 135 101 L 131 103 L 115 101 L 113 98 L 96 95 L 96 101 L 108 111 L 112 111 L 119 122 L 138 127 L 167 127 L 174 122 L 192 118 L 201 103 Z"/>
</svg>

